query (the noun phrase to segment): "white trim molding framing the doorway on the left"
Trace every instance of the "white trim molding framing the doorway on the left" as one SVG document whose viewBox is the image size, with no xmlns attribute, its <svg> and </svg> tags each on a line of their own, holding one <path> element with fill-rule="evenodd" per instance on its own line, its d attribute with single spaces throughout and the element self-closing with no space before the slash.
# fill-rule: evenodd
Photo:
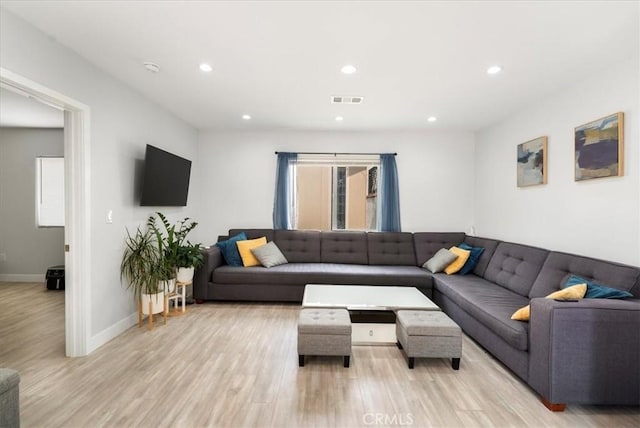
<svg viewBox="0 0 640 428">
<path fill-rule="evenodd" d="M 0 85 L 64 110 L 65 343 L 68 357 L 87 355 L 91 332 L 90 109 L 66 95 L 0 68 Z"/>
</svg>

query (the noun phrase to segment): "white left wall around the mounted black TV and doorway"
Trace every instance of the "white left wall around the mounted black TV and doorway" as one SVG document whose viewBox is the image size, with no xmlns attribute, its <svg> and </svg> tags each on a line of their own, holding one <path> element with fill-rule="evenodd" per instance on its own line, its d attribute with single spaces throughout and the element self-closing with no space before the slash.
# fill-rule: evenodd
<svg viewBox="0 0 640 428">
<path fill-rule="evenodd" d="M 95 68 L 31 25 L 2 10 L 0 65 L 91 109 L 91 299 L 90 348 L 130 325 L 136 306 L 121 285 L 120 258 L 125 227 L 135 229 L 153 212 L 138 207 L 136 162 L 147 143 L 194 160 L 187 208 L 163 209 L 170 219 L 197 212 L 197 131 L 121 82 Z M 141 71 L 144 73 L 144 71 Z M 106 223 L 113 210 L 113 224 Z"/>
</svg>

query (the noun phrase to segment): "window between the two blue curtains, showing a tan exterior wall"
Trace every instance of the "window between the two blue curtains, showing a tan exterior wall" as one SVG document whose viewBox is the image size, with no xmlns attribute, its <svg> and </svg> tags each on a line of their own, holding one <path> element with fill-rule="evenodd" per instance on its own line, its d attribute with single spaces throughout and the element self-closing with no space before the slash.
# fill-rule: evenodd
<svg viewBox="0 0 640 428">
<path fill-rule="evenodd" d="M 300 155 L 297 229 L 376 230 L 378 156 Z"/>
</svg>

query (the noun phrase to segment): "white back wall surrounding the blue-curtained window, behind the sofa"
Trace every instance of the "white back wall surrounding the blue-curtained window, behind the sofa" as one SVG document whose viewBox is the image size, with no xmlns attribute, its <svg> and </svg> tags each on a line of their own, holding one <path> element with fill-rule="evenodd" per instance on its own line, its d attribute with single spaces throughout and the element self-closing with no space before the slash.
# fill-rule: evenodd
<svg viewBox="0 0 640 428">
<path fill-rule="evenodd" d="M 272 227 L 275 151 L 397 152 L 404 231 L 466 231 L 473 144 L 465 132 L 203 131 L 203 244 L 235 227 Z"/>
</svg>

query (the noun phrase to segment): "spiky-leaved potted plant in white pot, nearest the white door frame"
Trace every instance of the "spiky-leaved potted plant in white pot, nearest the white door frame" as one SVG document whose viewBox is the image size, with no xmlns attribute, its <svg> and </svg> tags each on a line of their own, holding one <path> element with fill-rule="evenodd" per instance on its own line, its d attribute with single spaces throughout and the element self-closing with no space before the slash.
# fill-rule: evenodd
<svg viewBox="0 0 640 428">
<path fill-rule="evenodd" d="M 142 313 L 152 315 L 164 310 L 164 288 L 160 285 L 161 258 L 154 235 L 138 228 L 134 235 L 127 230 L 125 250 L 120 263 L 120 279 L 128 282 L 142 306 Z M 151 308 L 151 309 L 149 309 Z"/>
</svg>

